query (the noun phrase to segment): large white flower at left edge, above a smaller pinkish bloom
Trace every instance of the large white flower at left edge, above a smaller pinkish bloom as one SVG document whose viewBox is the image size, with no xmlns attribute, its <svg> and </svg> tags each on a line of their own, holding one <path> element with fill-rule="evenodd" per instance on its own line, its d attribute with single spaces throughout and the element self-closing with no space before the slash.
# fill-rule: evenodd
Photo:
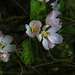
<svg viewBox="0 0 75 75">
<path fill-rule="evenodd" d="M 6 35 L 2 36 L 0 35 L 0 52 L 2 53 L 8 53 L 12 52 L 16 49 L 16 45 L 10 44 L 13 41 L 12 36 Z"/>
</svg>

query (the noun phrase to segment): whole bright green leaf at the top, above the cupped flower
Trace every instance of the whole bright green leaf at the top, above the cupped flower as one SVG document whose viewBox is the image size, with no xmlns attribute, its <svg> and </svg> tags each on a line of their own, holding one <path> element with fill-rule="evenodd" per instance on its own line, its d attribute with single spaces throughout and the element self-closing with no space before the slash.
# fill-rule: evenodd
<svg viewBox="0 0 75 75">
<path fill-rule="evenodd" d="M 38 0 L 31 0 L 30 20 L 41 20 L 46 12 L 45 2 L 40 4 Z"/>
</svg>

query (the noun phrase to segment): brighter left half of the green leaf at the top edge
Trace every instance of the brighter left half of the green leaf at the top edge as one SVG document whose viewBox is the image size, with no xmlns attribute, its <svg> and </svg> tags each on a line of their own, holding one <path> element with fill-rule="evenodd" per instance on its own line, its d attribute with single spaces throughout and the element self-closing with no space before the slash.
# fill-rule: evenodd
<svg viewBox="0 0 75 75">
<path fill-rule="evenodd" d="M 38 0 L 31 0 L 30 4 L 30 20 L 37 20 L 39 15 L 40 3 Z"/>
</svg>

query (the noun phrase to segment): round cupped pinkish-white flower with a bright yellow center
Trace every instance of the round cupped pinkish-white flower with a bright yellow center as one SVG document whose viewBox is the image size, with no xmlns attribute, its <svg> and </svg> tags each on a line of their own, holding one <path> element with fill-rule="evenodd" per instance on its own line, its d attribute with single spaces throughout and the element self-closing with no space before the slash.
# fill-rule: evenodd
<svg viewBox="0 0 75 75">
<path fill-rule="evenodd" d="M 38 36 L 41 26 L 42 26 L 42 23 L 40 21 L 33 20 L 29 23 L 29 25 L 27 24 L 25 25 L 27 29 L 26 33 L 28 34 L 28 36 L 32 38 L 35 36 Z"/>
</svg>

